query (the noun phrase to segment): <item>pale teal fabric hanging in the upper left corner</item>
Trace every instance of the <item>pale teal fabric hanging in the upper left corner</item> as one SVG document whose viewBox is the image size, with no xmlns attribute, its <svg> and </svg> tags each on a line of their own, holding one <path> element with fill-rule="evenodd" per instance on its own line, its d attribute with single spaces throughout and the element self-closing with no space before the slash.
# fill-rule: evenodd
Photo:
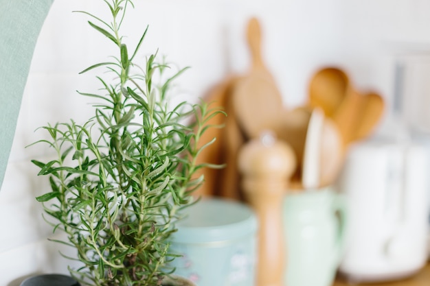
<svg viewBox="0 0 430 286">
<path fill-rule="evenodd" d="M 0 187 L 38 34 L 54 0 L 0 0 Z"/>
</svg>

